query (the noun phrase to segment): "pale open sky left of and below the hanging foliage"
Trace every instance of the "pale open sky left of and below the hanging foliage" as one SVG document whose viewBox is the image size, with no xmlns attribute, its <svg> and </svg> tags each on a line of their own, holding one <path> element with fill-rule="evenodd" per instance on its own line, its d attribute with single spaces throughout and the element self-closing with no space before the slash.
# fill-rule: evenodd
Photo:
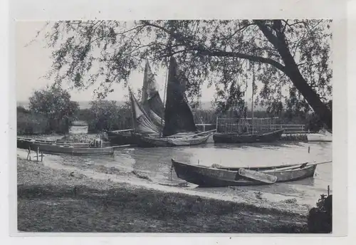
<svg viewBox="0 0 356 245">
<path fill-rule="evenodd" d="M 44 88 L 46 85 L 53 83 L 53 80 L 41 78 L 51 68 L 52 60 L 51 50 L 45 48 L 46 43 L 41 40 L 36 40 L 29 46 L 26 43 L 33 40 L 37 31 L 41 30 L 44 21 L 19 21 L 16 23 L 16 96 L 17 101 L 28 100 L 34 90 Z M 145 64 L 142 64 L 144 66 Z M 152 68 L 153 69 L 153 68 Z M 163 98 L 164 80 L 166 71 L 154 71 L 157 73 L 156 80 L 159 84 L 159 93 Z M 129 84 L 134 90 L 142 88 L 143 73 L 137 71 L 130 75 Z M 63 84 L 63 88 L 66 84 Z M 88 101 L 93 99 L 93 90 L 97 88 L 93 85 L 88 90 L 71 90 L 70 95 L 72 100 Z M 124 100 L 127 95 L 127 88 L 122 84 L 112 85 L 114 92 L 110 93 L 107 100 Z M 207 88 L 205 85 L 201 90 L 201 101 L 211 101 L 214 99 L 215 88 Z"/>
</svg>

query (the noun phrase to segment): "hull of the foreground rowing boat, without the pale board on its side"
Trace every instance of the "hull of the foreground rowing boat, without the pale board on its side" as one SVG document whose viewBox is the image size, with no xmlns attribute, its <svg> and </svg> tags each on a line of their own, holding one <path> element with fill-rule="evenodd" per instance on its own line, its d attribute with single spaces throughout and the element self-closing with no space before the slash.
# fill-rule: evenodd
<svg viewBox="0 0 356 245">
<path fill-rule="evenodd" d="M 189 165 L 183 162 L 172 160 L 172 165 L 177 177 L 184 179 L 187 182 L 197 184 L 201 187 L 227 187 L 227 186 L 244 186 L 244 185 L 261 185 L 264 182 L 256 181 L 255 179 L 248 179 L 241 176 L 239 171 L 231 171 L 222 168 L 204 167 L 199 165 Z M 301 165 L 299 165 L 301 166 Z M 271 174 L 277 177 L 276 182 L 291 182 L 299 179 L 306 179 L 313 177 L 316 165 L 310 165 L 303 168 L 295 167 L 289 170 L 281 170 L 276 168 L 273 170 L 271 167 L 264 167 L 262 171 L 266 174 Z M 250 168 L 250 170 L 257 170 Z"/>
</svg>

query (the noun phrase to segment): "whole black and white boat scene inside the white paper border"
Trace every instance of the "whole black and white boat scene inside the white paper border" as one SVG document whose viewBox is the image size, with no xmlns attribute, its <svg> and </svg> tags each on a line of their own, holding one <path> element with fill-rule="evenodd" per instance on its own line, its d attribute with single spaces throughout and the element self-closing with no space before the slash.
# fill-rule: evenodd
<svg viewBox="0 0 356 245">
<path fill-rule="evenodd" d="M 333 20 L 16 21 L 19 232 L 333 232 Z"/>
</svg>

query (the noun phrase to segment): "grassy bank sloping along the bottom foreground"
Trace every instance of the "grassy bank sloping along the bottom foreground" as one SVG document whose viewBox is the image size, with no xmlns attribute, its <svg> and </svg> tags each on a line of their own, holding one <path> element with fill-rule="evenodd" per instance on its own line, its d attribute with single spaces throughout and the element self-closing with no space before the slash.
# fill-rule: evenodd
<svg viewBox="0 0 356 245">
<path fill-rule="evenodd" d="M 19 231 L 307 232 L 305 215 L 135 188 L 18 159 Z"/>
</svg>

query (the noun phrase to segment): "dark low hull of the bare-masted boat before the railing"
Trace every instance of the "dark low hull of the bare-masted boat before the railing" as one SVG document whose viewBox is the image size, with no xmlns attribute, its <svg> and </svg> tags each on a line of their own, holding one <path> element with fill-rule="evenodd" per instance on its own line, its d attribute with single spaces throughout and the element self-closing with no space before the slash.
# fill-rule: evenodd
<svg viewBox="0 0 356 245">
<path fill-rule="evenodd" d="M 274 142 L 280 140 L 284 130 L 275 130 L 272 132 L 262 132 L 255 134 L 238 133 L 214 133 L 215 143 L 253 143 L 253 142 Z"/>
</svg>

